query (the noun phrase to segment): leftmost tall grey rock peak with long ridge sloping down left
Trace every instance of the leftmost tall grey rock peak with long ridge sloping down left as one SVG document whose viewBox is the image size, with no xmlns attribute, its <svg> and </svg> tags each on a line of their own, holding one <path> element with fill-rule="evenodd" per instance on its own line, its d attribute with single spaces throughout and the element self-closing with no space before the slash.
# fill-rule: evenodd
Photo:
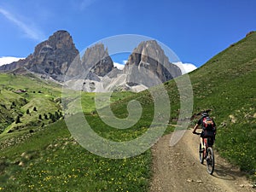
<svg viewBox="0 0 256 192">
<path fill-rule="evenodd" d="M 79 50 L 73 44 L 70 34 L 66 31 L 58 31 L 48 40 L 38 44 L 34 53 L 25 60 L 13 62 L 8 68 L 5 67 L 2 70 L 26 67 L 34 73 L 47 74 L 53 79 L 62 81 L 77 55 Z"/>
</svg>

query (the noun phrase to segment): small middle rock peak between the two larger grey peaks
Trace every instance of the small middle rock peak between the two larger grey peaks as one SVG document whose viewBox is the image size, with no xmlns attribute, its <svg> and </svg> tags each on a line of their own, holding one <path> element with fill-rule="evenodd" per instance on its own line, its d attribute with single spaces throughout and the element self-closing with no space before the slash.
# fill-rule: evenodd
<svg viewBox="0 0 256 192">
<path fill-rule="evenodd" d="M 82 57 L 82 66 L 85 70 L 98 76 L 105 76 L 113 69 L 113 61 L 108 55 L 108 49 L 103 44 L 95 44 L 85 50 Z"/>
</svg>

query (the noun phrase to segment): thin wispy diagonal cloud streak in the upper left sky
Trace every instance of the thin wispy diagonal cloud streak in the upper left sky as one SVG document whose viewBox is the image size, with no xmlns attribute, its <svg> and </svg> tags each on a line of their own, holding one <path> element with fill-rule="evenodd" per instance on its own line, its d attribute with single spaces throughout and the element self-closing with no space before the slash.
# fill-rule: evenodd
<svg viewBox="0 0 256 192">
<path fill-rule="evenodd" d="M 23 32 L 26 33 L 26 36 L 28 38 L 32 38 L 38 41 L 44 39 L 43 32 L 39 32 L 38 29 L 36 29 L 34 26 L 29 26 L 26 23 L 22 22 L 21 20 L 18 20 L 17 17 L 15 17 L 15 15 L 10 14 L 9 11 L 0 8 L 0 14 L 5 16 L 6 19 L 14 23 L 16 26 L 18 26 Z"/>
</svg>

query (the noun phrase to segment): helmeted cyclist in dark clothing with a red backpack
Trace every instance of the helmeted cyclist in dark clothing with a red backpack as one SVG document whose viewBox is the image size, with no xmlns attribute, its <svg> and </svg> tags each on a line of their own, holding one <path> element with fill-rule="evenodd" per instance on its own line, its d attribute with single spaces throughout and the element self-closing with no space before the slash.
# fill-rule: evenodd
<svg viewBox="0 0 256 192">
<path fill-rule="evenodd" d="M 205 131 L 205 127 L 204 127 L 204 123 L 203 123 L 203 119 L 205 119 L 205 118 L 207 118 L 207 117 L 209 117 L 209 114 L 208 113 L 206 113 L 206 112 L 203 112 L 202 114 L 201 114 L 201 119 L 199 119 L 198 121 L 197 121 L 197 123 L 196 123 L 196 125 L 195 125 L 195 127 L 194 127 L 194 129 L 193 129 L 193 133 L 195 134 L 195 131 L 198 129 L 198 127 L 201 125 L 201 128 L 202 128 L 202 131 L 201 131 L 201 136 L 200 136 L 200 141 L 201 141 L 201 146 L 202 146 L 202 150 L 204 150 L 204 142 L 203 142 L 203 138 L 204 137 L 209 137 L 209 136 L 207 136 L 205 133 L 206 133 L 206 131 Z M 212 119 L 212 122 L 213 122 L 213 126 L 212 126 L 212 136 L 211 137 L 213 137 L 214 138 L 214 140 L 215 140 L 215 135 L 216 135 L 216 124 L 215 124 L 215 122 L 214 122 L 214 120 Z"/>
</svg>

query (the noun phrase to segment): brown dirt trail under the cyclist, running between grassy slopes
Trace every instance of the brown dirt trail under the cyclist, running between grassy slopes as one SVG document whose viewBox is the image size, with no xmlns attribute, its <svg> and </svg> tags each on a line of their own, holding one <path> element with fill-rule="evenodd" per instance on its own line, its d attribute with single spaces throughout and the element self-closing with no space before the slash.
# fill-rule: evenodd
<svg viewBox="0 0 256 192">
<path fill-rule="evenodd" d="M 200 137 L 186 131 L 183 138 L 170 147 L 171 135 L 161 137 L 153 147 L 154 175 L 150 191 L 256 191 L 236 167 L 215 153 L 213 175 L 207 173 L 206 163 L 198 160 Z"/>
</svg>

